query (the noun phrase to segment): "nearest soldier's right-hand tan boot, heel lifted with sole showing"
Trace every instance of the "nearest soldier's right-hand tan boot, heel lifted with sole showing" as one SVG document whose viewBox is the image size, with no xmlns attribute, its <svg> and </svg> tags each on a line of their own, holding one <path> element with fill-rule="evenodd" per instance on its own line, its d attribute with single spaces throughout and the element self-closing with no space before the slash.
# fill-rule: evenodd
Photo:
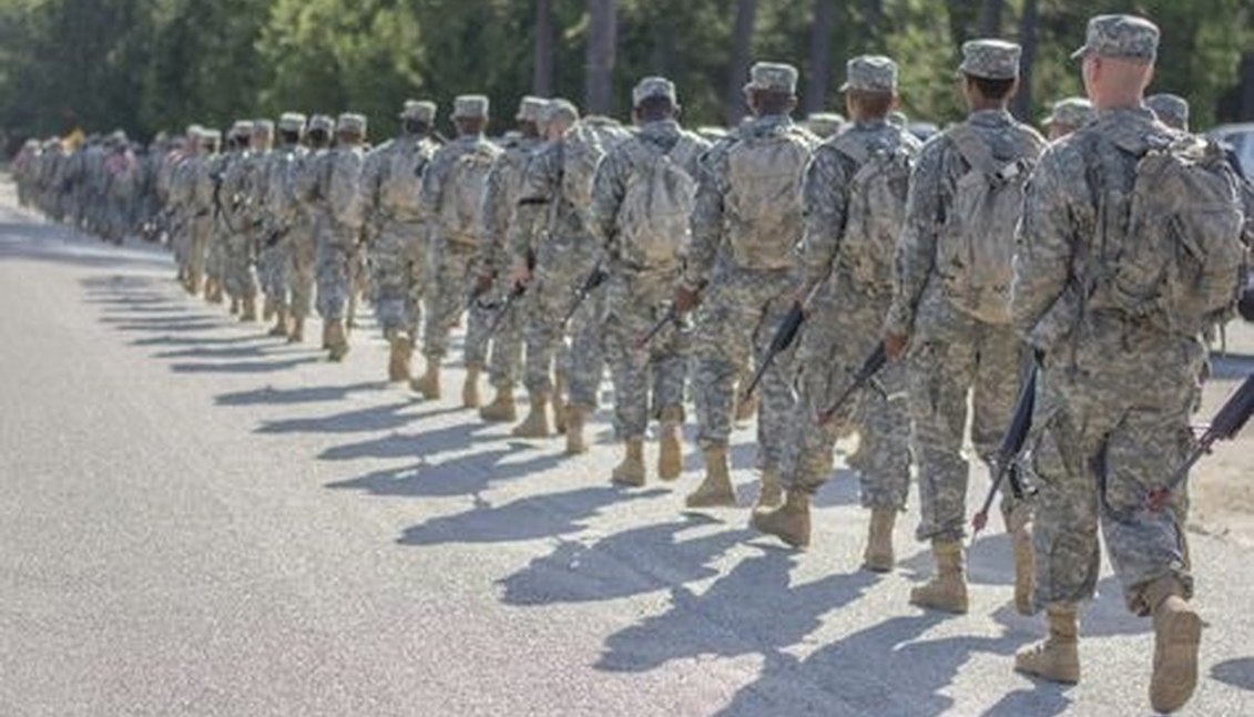
<svg viewBox="0 0 1254 717">
<path fill-rule="evenodd" d="M 1164 575 L 1145 589 L 1154 614 L 1150 706 L 1157 712 L 1175 712 L 1184 707 L 1198 687 L 1201 617 L 1184 595 L 1184 585 L 1174 575 Z"/>
</svg>

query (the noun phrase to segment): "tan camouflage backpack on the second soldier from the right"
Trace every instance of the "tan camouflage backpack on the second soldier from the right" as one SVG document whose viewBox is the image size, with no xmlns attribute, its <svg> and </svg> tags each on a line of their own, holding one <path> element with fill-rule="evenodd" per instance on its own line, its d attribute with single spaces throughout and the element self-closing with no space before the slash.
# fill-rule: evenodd
<svg viewBox="0 0 1254 717">
<path fill-rule="evenodd" d="M 999 159 L 971 125 L 958 125 L 946 135 L 969 169 L 958 178 L 937 242 L 944 295 L 959 311 L 981 321 L 1009 323 L 1014 234 L 1028 175 L 1042 147 L 1036 144 L 1025 157 Z"/>
</svg>

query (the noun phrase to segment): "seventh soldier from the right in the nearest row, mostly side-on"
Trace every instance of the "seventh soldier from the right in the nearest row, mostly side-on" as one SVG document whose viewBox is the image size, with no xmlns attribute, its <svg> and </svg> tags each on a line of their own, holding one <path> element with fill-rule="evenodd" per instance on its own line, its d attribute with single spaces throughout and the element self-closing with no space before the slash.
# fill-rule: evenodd
<svg viewBox="0 0 1254 717">
<path fill-rule="evenodd" d="M 514 288 L 509 285 L 509 246 L 507 238 L 514 223 L 514 207 L 522 189 L 527 162 L 540 145 L 540 119 L 548 105 L 537 97 L 524 97 L 518 105 L 518 137 L 504 144 L 488 174 L 488 191 L 483 204 L 483 236 L 479 238 L 479 276 L 475 295 L 482 300 L 495 293 L 498 311 Z M 515 300 L 517 303 L 517 300 Z M 512 306 L 509 313 L 493 318 L 499 321 L 492 336 L 488 358 L 488 382 L 497 390 L 492 402 L 479 410 L 485 421 L 513 422 L 518 420 L 514 406 L 514 385 L 518 382 L 523 362 L 523 310 Z"/>
</svg>

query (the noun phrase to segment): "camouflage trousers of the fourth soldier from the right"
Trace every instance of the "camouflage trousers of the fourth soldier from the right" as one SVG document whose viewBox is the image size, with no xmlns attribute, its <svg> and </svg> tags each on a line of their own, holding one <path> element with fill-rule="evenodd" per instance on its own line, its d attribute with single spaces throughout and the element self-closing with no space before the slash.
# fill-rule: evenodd
<svg viewBox="0 0 1254 717">
<path fill-rule="evenodd" d="M 697 441 L 702 449 L 727 445 L 736 404 L 736 379 L 750 360 L 761 358 L 791 307 L 796 286 L 789 270 L 752 271 L 727 267 L 719 272 L 701 303 L 692 353 L 697 409 Z M 795 345 L 794 345 L 795 347 Z M 782 468 L 788 424 L 796 399 L 793 353 L 775 357 L 757 386 L 757 466 Z"/>
</svg>

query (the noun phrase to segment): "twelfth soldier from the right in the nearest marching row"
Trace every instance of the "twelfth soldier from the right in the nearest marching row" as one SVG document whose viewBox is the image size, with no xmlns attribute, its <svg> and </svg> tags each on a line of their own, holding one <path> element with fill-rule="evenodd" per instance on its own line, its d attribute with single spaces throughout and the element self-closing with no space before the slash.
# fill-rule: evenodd
<svg viewBox="0 0 1254 717">
<path fill-rule="evenodd" d="M 285 112 L 278 118 L 278 149 L 271 152 L 262 165 L 260 191 L 260 239 L 257 273 L 261 290 L 266 293 L 265 316 L 275 318 L 270 336 L 286 338 L 288 335 L 287 257 L 288 234 L 297 221 L 295 198 L 295 170 L 303 148 L 300 145 L 305 132 L 305 115 Z"/>
</svg>

